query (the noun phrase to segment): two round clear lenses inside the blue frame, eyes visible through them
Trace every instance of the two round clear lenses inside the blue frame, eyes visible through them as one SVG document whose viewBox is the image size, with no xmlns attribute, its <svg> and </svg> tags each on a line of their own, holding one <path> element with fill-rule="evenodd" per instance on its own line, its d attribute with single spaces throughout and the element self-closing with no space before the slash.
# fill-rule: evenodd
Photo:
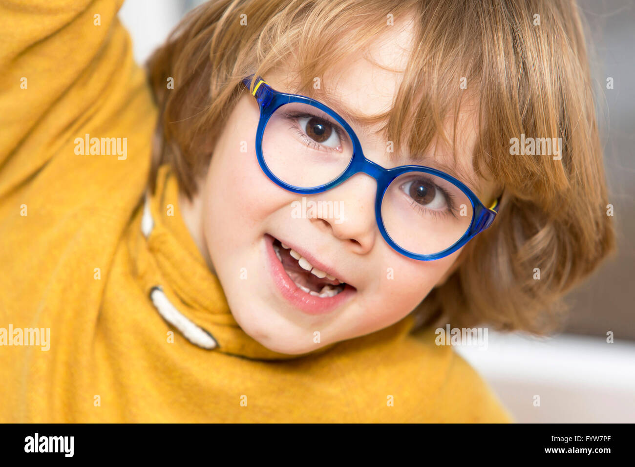
<svg viewBox="0 0 635 467">
<path fill-rule="evenodd" d="M 292 102 L 279 107 L 267 121 L 262 155 L 284 183 L 314 188 L 345 172 L 353 144 L 344 128 L 321 109 Z M 472 205 L 455 184 L 431 173 L 406 172 L 387 187 L 381 215 L 399 247 L 432 255 L 451 247 L 469 229 Z"/>
</svg>

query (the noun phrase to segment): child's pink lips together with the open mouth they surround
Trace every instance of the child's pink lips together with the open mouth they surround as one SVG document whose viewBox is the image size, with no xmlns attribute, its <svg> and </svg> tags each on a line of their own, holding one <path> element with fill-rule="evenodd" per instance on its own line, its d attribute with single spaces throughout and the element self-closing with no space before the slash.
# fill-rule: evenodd
<svg viewBox="0 0 635 467">
<path fill-rule="evenodd" d="M 265 243 L 274 283 L 283 297 L 301 311 L 309 315 L 329 313 L 356 293 L 354 287 L 324 271 L 329 268 L 312 255 L 310 262 L 269 234 L 265 235 Z"/>
</svg>

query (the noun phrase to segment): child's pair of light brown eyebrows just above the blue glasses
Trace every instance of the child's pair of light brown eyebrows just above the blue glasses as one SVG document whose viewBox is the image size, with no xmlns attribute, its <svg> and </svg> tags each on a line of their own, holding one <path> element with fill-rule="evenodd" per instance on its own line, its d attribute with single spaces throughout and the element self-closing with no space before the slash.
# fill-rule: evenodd
<svg viewBox="0 0 635 467">
<path fill-rule="evenodd" d="M 342 104 L 341 100 L 337 98 L 331 97 L 331 95 L 325 92 L 315 92 L 312 91 L 311 94 L 307 95 L 307 97 L 312 98 L 313 100 L 317 100 L 322 104 L 330 107 L 331 110 L 335 111 L 340 117 L 344 118 L 347 123 L 351 126 L 356 126 L 356 128 L 361 128 L 363 130 L 368 130 L 371 123 L 375 117 L 370 116 L 361 116 L 359 114 L 355 114 L 348 107 Z M 377 132 L 373 132 L 373 134 L 377 134 Z M 436 170 L 441 170 L 441 172 L 448 173 L 457 180 L 460 180 L 465 186 L 467 186 L 471 191 L 476 194 L 479 198 L 482 195 L 479 195 L 479 183 L 474 178 L 474 175 L 469 170 L 466 170 L 463 166 L 459 166 L 457 164 L 448 165 L 444 162 L 438 161 L 436 159 L 431 158 L 427 155 L 421 156 L 401 156 L 401 160 L 405 161 L 403 165 L 422 165 L 426 167 L 435 168 Z"/>
</svg>

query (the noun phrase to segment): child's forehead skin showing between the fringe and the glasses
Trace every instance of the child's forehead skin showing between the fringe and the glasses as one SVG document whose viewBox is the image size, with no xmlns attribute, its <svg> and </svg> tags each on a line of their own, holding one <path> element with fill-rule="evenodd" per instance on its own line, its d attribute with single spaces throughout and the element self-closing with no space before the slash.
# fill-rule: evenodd
<svg viewBox="0 0 635 467">
<path fill-rule="evenodd" d="M 403 81 L 403 71 L 408 66 L 413 39 L 411 21 L 398 29 L 389 29 L 366 49 L 351 53 L 329 67 L 323 76 L 316 76 L 312 89 L 303 94 L 328 105 L 351 125 L 366 158 L 387 167 L 412 164 L 443 170 L 488 202 L 495 188 L 481 177 L 489 178 L 489 174 L 478 177 L 472 166 L 472 153 L 478 139 L 473 100 L 466 100 L 457 114 L 445 116 L 443 127 L 449 141 L 437 135 L 424 154 L 408 154 L 406 144 L 393 142 L 393 160 L 390 165 L 385 164 L 388 142 L 382 132 L 385 119 L 382 116 L 392 109 Z M 287 67 L 286 70 L 272 71 L 265 79 L 278 91 L 298 93 L 295 77 L 297 74 Z"/>
</svg>

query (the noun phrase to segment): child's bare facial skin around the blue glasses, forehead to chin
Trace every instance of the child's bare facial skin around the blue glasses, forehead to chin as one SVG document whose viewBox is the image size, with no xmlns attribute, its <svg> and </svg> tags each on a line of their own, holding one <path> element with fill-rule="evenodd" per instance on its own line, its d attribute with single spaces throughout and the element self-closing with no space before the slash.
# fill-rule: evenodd
<svg viewBox="0 0 635 467">
<path fill-rule="evenodd" d="M 371 57 L 403 69 L 409 40 L 408 30 L 389 34 L 371 48 Z M 290 91 L 284 74 L 263 78 L 275 90 Z M 399 79 L 398 73 L 359 57 L 321 77 L 321 86 L 337 95 L 342 107 L 372 115 L 391 107 Z M 460 250 L 436 261 L 408 259 L 392 250 L 375 220 L 377 184 L 364 173 L 312 195 L 291 193 L 274 184 L 256 158 L 258 118 L 257 102 L 244 91 L 215 144 L 210 170 L 192 204 L 200 206 L 199 218 L 189 221 L 190 231 L 200 233 L 199 247 L 218 274 L 234 318 L 253 339 L 274 351 L 299 354 L 380 330 L 408 315 L 458 265 Z M 472 173 L 474 123 L 471 114 L 460 116 L 456 148 L 460 165 Z M 382 135 L 374 134 L 373 128 L 351 126 L 371 161 L 387 168 L 417 163 L 406 154 L 399 161 L 391 160 L 394 154 L 386 152 Z M 246 152 L 241 152 L 245 147 Z M 435 157 L 453 163 L 447 151 L 438 151 Z M 483 180 L 474 187 L 484 203 L 492 201 L 493 189 Z M 298 216 L 293 202 L 302 203 L 303 196 L 306 201 L 332 201 L 342 211 L 337 218 Z M 278 241 L 347 285 L 337 287 L 337 280 L 305 271 L 302 264 L 311 266 L 291 257 L 291 250 L 277 247 Z M 338 294 L 328 296 L 334 292 Z"/>
</svg>

